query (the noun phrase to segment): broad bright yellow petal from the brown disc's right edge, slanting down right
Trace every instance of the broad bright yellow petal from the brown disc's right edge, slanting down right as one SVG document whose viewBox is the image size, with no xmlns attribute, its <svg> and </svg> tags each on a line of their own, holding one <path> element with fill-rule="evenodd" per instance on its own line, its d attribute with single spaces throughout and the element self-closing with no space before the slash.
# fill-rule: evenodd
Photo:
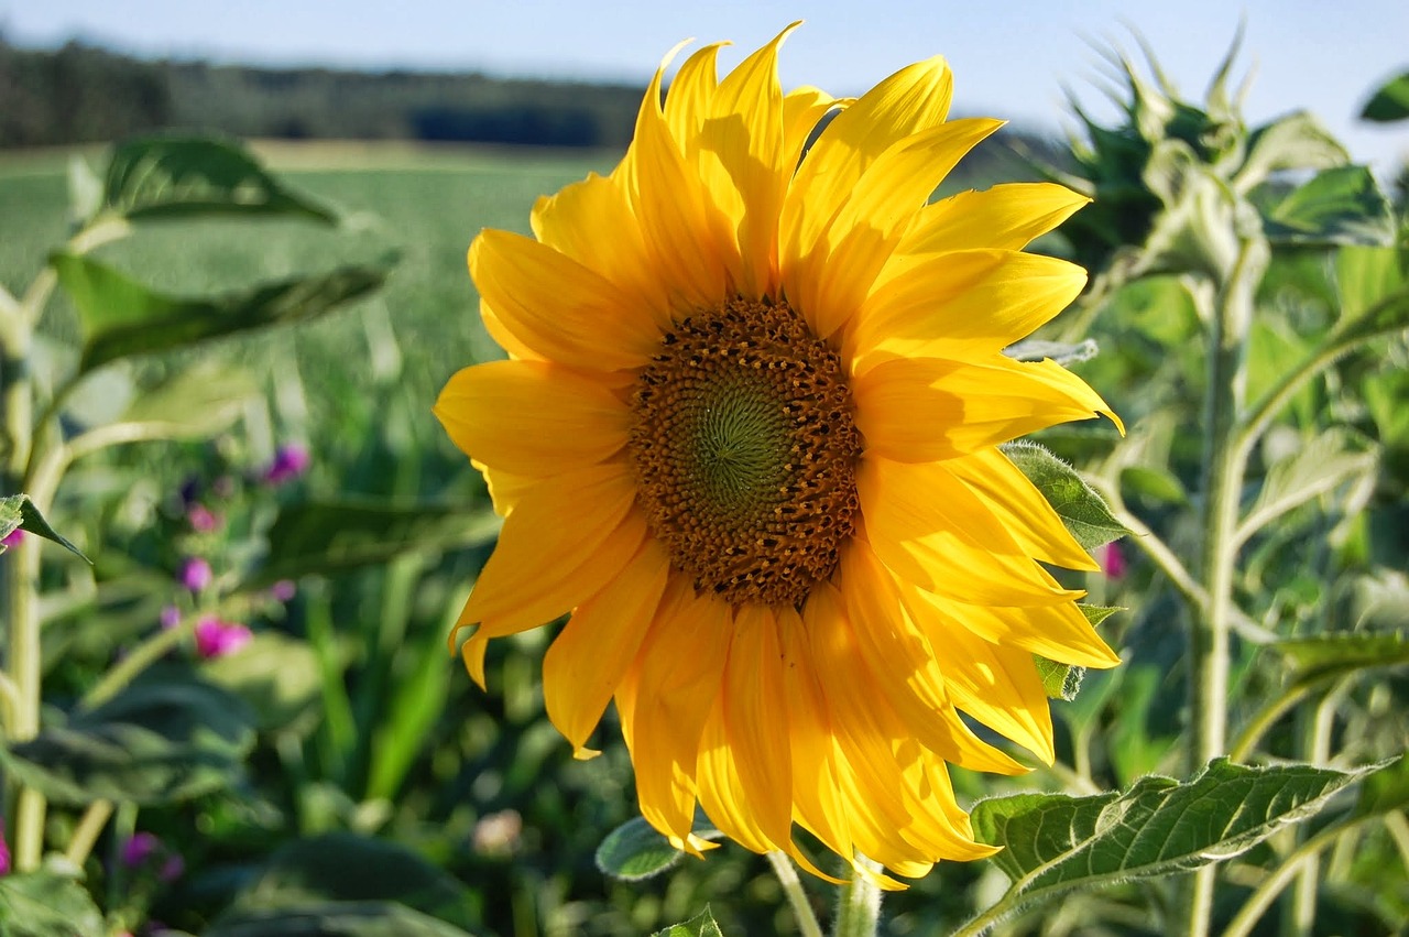
<svg viewBox="0 0 1409 937">
<path fill-rule="evenodd" d="M 865 535 L 898 576 L 976 604 L 1053 604 L 1064 590 L 944 462 L 862 459 Z M 865 552 L 865 551 L 862 551 Z"/>
</svg>

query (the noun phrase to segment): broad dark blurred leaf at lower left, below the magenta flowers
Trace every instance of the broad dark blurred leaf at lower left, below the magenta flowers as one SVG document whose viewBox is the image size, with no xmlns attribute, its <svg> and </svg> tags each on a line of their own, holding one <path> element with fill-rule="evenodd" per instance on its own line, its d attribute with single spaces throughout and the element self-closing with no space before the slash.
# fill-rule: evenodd
<svg viewBox="0 0 1409 937">
<path fill-rule="evenodd" d="M 155 806 L 231 786 L 252 747 L 240 699 L 190 676 L 152 674 L 66 726 L 10 744 L 3 758 L 52 800 Z"/>
</svg>

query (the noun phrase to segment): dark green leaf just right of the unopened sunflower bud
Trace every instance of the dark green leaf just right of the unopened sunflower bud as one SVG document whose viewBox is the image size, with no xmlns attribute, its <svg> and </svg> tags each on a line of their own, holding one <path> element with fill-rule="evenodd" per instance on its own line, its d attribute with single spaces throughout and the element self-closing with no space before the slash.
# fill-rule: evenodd
<svg viewBox="0 0 1409 937">
<path fill-rule="evenodd" d="M 1316 173 L 1267 211 L 1264 230 L 1274 242 L 1322 247 L 1395 238 L 1389 201 L 1364 166 Z"/>
</svg>

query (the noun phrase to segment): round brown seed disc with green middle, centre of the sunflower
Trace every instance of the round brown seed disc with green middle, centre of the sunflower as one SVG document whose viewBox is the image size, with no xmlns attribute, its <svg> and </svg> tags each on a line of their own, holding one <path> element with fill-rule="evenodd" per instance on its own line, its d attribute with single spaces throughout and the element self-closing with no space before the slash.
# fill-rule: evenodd
<svg viewBox="0 0 1409 937">
<path fill-rule="evenodd" d="M 800 607 L 854 533 L 861 434 L 841 358 L 786 303 L 679 321 L 635 380 L 640 503 L 676 569 Z"/>
</svg>

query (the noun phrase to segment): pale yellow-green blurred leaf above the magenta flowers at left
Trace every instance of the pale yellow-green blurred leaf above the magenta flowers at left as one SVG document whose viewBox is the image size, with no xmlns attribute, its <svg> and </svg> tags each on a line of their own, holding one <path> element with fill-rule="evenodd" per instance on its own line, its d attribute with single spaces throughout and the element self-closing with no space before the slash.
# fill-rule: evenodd
<svg viewBox="0 0 1409 937">
<path fill-rule="evenodd" d="M 120 421 L 145 424 L 169 440 L 207 438 L 228 428 L 258 396 L 249 372 L 207 361 L 138 395 Z"/>
</svg>

